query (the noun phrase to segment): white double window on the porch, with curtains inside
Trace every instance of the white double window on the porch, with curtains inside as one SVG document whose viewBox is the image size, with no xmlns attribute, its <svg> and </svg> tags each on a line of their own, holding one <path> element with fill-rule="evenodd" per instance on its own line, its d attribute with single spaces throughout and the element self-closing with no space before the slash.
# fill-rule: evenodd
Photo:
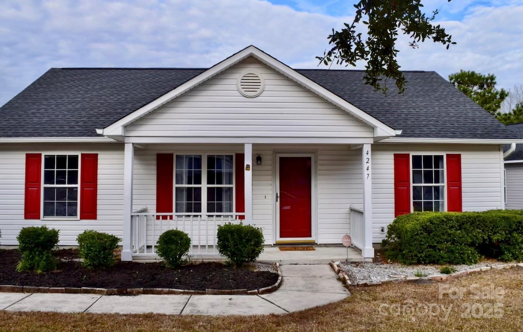
<svg viewBox="0 0 523 332">
<path fill-rule="evenodd" d="M 233 212 L 232 155 L 176 155 L 176 213 Z"/>
</svg>

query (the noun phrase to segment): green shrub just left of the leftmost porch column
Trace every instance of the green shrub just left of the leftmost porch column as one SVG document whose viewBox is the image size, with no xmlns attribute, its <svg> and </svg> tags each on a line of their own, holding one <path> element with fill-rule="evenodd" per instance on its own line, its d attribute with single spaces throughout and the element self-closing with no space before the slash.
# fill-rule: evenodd
<svg viewBox="0 0 523 332">
<path fill-rule="evenodd" d="M 97 231 L 84 231 L 76 237 L 82 266 L 87 269 L 104 269 L 115 265 L 115 249 L 121 238 Z"/>
</svg>

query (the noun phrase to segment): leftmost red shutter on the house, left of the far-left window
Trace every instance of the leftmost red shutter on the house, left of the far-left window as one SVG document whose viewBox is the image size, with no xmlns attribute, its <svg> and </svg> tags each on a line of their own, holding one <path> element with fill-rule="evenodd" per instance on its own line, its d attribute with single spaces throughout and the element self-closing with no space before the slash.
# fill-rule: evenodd
<svg viewBox="0 0 523 332">
<path fill-rule="evenodd" d="M 42 154 L 26 154 L 26 190 L 24 218 L 40 219 L 40 194 L 42 180 Z"/>
</svg>

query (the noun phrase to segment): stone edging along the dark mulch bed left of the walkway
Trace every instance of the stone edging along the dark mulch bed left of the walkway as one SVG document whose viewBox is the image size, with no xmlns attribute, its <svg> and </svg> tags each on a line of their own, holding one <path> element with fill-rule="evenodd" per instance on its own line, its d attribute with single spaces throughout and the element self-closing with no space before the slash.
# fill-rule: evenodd
<svg viewBox="0 0 523 332">
<path fill-rule="evenodd" d="M 280 264 L 276 263 L 278 280 L 276 283 L 259 289 L 206 289 L 204 291 L 173 289 L 173 288 L 94 288 L 94 287 L 38 287 L 0 285 L 0 292 L 9 293 L 62 293 L 62 294 L 100 294 L 100 295 L 261 295 L 276 291 L 282 282 Z"/>
</svg>

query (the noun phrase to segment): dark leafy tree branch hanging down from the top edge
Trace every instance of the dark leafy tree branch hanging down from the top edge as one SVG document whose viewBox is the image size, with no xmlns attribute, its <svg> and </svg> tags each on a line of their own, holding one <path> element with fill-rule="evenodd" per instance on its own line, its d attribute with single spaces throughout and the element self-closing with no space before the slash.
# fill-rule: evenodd
<svg viewBox="0 0 523 332">
<path fill-rule="evenodd" d="M 361 0 L 354 7 L 354 21 L 345 24 L 340 31 L 333 29 L 332 35 L 328 36 L 331 49 L 316 59 L 325 65 L 356 66 L 356 62 L 366 61 L 365 84 L 384 93 L 387 86 L 382 86 L 383 78 L 393 78 L 400 93 L 405 90 L 406 80 L 396 60 L 400 31 L 411 39 L 412 48 L 418 48 L 418 43 L 426 39 L 446 44 L 447 49 L 450 44 L 456 44 L 444 28 L 431 24 L 438 10 L 427 16 L 422 12 L 421 0 Z M 366 28 L 361 28 L 360 22 Z M 367 38 L 363 37 L 364 32 L 367 32 Z"/>
</svg>

